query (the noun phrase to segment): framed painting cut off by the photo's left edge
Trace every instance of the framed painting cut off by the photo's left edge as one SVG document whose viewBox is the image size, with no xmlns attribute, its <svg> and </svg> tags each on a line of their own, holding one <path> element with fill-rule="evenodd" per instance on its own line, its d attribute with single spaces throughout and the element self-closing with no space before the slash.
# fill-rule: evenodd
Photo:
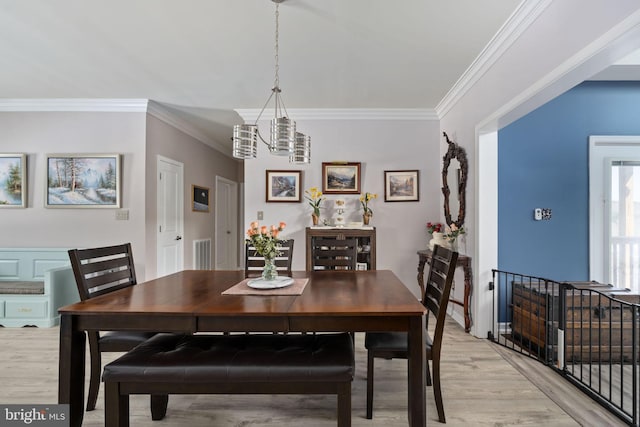
<svg viewBox="0 0 640 427">
<path fill-rule="evenodd" d="M 27 188 L 27 155 L 0 153 L 0 208 L 26 208 Z"/>
</svg>

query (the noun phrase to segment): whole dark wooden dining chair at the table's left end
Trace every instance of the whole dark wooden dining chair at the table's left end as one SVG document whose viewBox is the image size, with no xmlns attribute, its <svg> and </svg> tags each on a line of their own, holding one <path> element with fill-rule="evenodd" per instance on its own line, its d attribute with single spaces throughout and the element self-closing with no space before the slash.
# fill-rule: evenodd
<svg viewBox="0 0 640 427">
<path fill-rule="evenodd" d="M 82 301 L 137 283 L 130 243 L 101 248 L 71 249 L 69 259 Z M 101 353 L 129 351 L 154 335 L 155 332 L 87 331 L 91 358 L 87 411 L 94 410 L 98 400 L 102 370 Z M 152 396 L 153 419 L 156 419 L 155 402 L 159 403 L 156 399 L 167 399 L 167 396 Z"/>
</svg>

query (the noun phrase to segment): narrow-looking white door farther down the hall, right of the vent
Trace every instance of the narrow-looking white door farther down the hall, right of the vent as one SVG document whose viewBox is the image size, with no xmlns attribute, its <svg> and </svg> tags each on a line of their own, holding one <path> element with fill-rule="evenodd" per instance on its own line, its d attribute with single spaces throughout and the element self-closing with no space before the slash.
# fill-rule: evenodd
<svg viewBox="0 0 640 427">
<path fill-rule="evenodd" d="M 238 269 L 238 184 L 216 177 L 216 269 Z"/>
</svg>

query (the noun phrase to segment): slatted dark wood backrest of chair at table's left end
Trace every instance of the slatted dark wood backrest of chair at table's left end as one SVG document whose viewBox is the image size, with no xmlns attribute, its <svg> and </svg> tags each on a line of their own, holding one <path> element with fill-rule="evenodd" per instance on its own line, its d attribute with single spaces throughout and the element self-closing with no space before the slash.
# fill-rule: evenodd
<svg viewBox="0 0 640 427">
<path fill-rule="evenodd" d="M 69 259 L 83 301 L 137 283 L 130 243 L 71 249 Z"/>
</svg>

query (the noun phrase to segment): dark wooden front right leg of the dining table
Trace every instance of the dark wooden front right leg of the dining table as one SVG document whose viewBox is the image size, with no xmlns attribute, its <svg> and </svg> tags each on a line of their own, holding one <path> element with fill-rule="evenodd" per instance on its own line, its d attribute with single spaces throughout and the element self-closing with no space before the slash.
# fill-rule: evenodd
<svg viewBox="0 0 640 427">
<path fill-rule="evenodd" d="M 409 321 L 409 426 L 426 427 L 426 350 L 425 317 L 412 317 Z"/>
</svg>

